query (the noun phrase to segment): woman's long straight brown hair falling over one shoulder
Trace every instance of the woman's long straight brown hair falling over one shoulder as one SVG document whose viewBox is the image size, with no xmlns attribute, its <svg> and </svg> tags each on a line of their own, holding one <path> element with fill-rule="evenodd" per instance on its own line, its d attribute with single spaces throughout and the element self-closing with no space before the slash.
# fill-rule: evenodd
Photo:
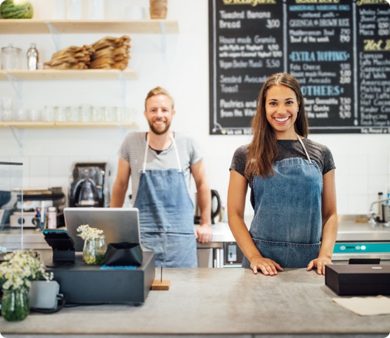
<svg viewBox="0 0 390 338">
<path fill-rule="evenodd" d="M 302 137 L 308 135 L 308 120 L 301 87 L 294 76 L 288 73 L 276 73 L 268 77 L 261 88 L 257 101 L 256 115 L 252 119 L 253 138 L 248 147 L 245 177 L 251 180 L 254 176 L 268 177 L 273 174 L 272 163 L 278 156 L 278 142 L 273 127 L 266 118 L 266 95 L 268 89 L 283 85 L 292 89 L 297 96 L 299 111 L 294 123 L 294 130 Z"/>
</svg>

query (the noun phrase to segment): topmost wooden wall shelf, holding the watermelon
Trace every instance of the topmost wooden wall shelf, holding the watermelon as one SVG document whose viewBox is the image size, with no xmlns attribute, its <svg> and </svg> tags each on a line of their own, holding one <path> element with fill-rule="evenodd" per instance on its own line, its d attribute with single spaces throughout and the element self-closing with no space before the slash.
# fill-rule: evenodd
<svg viewBox="0 0 390 338">
<path fill-rule="evenodd" d="M 64 34 L 120 33 L 120 34 L 177 34 L 177 20 L 0 20 L 1 34 L 48 34 L 51 28 Z"/>
</svg>

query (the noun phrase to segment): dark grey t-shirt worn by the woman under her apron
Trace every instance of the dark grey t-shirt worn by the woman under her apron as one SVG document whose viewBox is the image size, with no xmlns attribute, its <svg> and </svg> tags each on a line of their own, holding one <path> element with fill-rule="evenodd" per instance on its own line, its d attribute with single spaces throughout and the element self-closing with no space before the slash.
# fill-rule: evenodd
<svg viewBox="0 0 390 338">
<path fill-rule="evenodd" d="M 304 142 L 308 156 L 311 160 L 314 160 L 320 168 L 320 172 L 325 175 L 328 171 L 336 168 L 330 149 L 323 144 L 312 141 L 311 139 L 302 139 Z M 230 170 L 237 171 L 240 175 L 245 176 L 245 166 L 247 165 L 247 154 L 249 144 L 240 146 L 236 149 L 232 163 L 230 164 Z M 276 158 L 276 162 L 282 161 L 285 158 L 304 158 L 307 160 L 306 153 L 303 146 L 297 139 L 278 139 L 279 154 Z M 254 206 L 253 196 L 253 180 L 250 180 L 249 187 L 251 188 L 251 204 Z"/>
</svg>

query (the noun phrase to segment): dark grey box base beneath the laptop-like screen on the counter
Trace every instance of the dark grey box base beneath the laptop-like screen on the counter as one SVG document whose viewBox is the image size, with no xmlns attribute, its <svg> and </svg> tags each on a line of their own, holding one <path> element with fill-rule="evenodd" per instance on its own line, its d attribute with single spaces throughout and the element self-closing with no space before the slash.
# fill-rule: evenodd
<svg viewBox="0 0 390 338">
<path fill-rule="evenodd" d="M 134 269 L 101 269 L 82 261 L 76 253 L 73 265 L 46 270 L 60 284 L 66 303 L 129 303 L 140 305 L 155 280 L 155 253 L 143 251 L 142 265 Z"/>
</svg>

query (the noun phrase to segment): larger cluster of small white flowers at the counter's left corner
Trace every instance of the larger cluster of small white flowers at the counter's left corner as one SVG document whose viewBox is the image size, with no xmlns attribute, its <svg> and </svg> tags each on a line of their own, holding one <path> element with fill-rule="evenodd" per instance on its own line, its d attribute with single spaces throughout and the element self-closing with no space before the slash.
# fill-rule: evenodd
<svg viewBox="0 0 390 338">
<path fill-rule="evenodd" d="M 38 253 L 15 251 L 4 257 L 0 264 L 0 284 L 4 290 L 29 290 L 32 280 L 52 280 L 53 273 L 46 273 Z"/>
</svg>

